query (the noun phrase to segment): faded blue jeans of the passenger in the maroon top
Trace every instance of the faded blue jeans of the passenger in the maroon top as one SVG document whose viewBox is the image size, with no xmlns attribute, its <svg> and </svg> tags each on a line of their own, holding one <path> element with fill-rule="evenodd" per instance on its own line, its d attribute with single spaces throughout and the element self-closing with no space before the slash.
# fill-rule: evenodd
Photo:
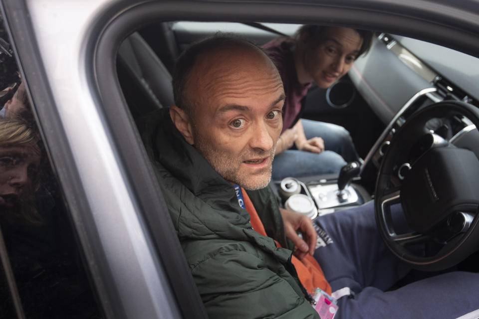
<svg viewBox="0 0 479 319">
<path fill-rule="evenodd" d="M 324 140 L 325 151 L 316 154 L 298 151 L 294 146 L 274 157 L 271 177 L 302 177 L 339 173 L 346 162 L 358 160 L 349 132 L 342 126 L 301 119 L 306 139 L 320 137 Z"/>
</svg>

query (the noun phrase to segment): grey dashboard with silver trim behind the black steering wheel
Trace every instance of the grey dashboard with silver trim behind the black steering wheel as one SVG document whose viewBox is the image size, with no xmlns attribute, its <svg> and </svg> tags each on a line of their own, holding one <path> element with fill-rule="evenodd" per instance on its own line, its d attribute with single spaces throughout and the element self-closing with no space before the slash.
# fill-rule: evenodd
<svg viewBox="0 0 479 319">
<path fill-rule="evenodd" d="M 479 59 L 470 55 L 402 36 L 377 36 L 369 54 L 358 58 L 349 71 L 351 81 L 386 124 L 362 169 L 368 164 L 379 168 L 394 134 L 417 110 L 444 100 L 479 107 L 479 73 L 472 69 L 479 69 Z M 429 129 L 458 146 L 479 138 L 476 127 L 462 117 L 436 119 Z M 399 179 L 401 172 L 398 167 Z"/>
</svg>

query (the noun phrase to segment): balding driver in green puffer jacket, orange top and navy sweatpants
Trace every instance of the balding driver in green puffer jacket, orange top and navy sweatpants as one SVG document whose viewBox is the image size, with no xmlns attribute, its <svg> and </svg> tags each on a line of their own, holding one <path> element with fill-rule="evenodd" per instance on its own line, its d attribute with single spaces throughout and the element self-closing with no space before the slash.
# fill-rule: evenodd
<svg viewBox="0 0 479 319">
<path fill-rule="evenodd" d="M 210 318 L 333 315 L 334 302 L 310 305 L 317 288 L 339 299 L 336 318 L 456 318 L 479 307 L 478 274 L 384 292 L 409 267 L 385 248 L 370 204 L 316 219 L 327 238 L 317 249 L 311 220 L 278 208 L 267 185 L 285 96 L 259 48 L 199 42 L 177 61 L 173 87 L 176 106 L 138 126 Z"/>
</svg>

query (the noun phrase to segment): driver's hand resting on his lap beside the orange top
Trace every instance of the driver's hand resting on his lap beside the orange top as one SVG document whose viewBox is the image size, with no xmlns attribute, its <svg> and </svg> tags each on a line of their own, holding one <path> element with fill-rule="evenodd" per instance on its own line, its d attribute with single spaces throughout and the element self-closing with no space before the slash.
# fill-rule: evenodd
<svg viewBox="0 0 479 319">
<path fill-rule="evenodd" d="M 299 259 L 303 259 L 308 253 L 312 256 L 316 248 L 318 235 L 316 234 L 311 218 L 283 208 L 279 208 L 279 211 L 283 217 L 284 233 L 295 246 L 294 256 Z M 301 233 L 302 239 L 298 236 L 297 231 Z"/>
</svg>

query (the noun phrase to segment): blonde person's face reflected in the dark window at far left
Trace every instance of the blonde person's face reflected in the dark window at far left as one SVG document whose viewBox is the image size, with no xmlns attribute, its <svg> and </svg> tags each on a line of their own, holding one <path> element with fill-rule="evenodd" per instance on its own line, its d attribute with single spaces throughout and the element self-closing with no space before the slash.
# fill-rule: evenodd
<svg viewBox="0 0 479 319">
<path fill-rule="evenodd" d="M 32 186 L 40 165 L 40 150 L 34 143 L 0 147 L 0 207 L 12 208 Z"/>
</svg>

